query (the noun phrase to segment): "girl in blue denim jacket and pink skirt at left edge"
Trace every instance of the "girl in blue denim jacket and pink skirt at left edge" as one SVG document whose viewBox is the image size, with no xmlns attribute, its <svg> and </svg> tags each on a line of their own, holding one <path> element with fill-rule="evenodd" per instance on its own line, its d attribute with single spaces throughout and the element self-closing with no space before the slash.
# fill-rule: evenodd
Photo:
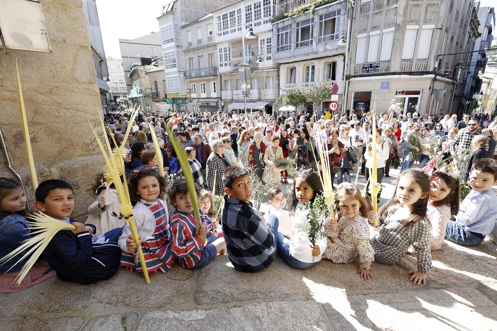
<svg viewBox="0 0 497 331">
<path fill-rule="evenodd" d="M 18 181 L 0 177 L 0 258 L 22 245 L 30 239 L 30 230 L 27 229 L 26 195 Z M 20 285 L 14 284 L 19 270 L 27 258 L 16 262 L 16 257 L 0 264 L 0 293 L 12 293 L 41 283 L 45 279 L 55 276 L 47 262 L 41 259 L 26 275 Z M 15 265 L 14 265 L 15 264 Z"/>
</svg>

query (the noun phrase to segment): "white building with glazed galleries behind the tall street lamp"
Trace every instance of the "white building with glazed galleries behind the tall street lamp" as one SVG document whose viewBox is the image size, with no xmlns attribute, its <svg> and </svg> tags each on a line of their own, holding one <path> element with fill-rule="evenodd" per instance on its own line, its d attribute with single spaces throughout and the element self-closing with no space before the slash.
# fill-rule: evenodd
<svg viewBox="0 0 497 331">
<path fill-rule="evenodd" d="M 221 74 L 222 109 L 273 113 L 278 97 L 278 69 L 273 61 L 276 0 L 237 1 L 212 11 L 217 60 Z M 242 38 L 252 28 L 255 37 Z M 245 49 L 244 47 L 245 46 Z M 257 63 L 260 58 L 260 63 Z M 244 96 L 239 65 L 250 67 L 249 95 Z M 247 103 L 247 105 L 246 105 Z"/>
</svg>

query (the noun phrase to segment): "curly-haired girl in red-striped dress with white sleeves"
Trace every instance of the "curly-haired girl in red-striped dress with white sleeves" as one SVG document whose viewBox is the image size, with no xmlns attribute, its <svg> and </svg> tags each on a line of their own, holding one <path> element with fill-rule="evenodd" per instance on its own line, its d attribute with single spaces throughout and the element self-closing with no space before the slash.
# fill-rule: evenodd
<svg viewBox="0 0 497 331">
<path fill-rule="evenodd" d="M 159 174 L 156 166 L 141 167 L 132 172 L 128 188 L 131 200 L 138 201 L 133 215 L 147 271 L 151 275 L 158 271 L 166 272 L 173 262 L 169 213 L 166 202 L 162 200 L 166 193 L 166 179 Z M 143 272 L 129 224 L 124 226 L 118 244 L 123 251 L 121 265 L 128 271 Z"/>
</svg>

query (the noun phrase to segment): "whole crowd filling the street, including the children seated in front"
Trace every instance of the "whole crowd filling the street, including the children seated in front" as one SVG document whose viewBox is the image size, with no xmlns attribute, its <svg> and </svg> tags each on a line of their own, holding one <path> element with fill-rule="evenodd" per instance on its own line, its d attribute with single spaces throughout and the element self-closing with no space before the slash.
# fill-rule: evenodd
<svg viewBox="0 0 497 331">
<path fill-rule="evenodd" d="M 373 261 L 394 264 L 407 252 L 415 252 L 417 268 L 409 271 L 410 280 L 425 284 L 431 250 L 441 249 L 444 239 L 479 245 L 496 223 L 497 196 L 492 189 L 497 184 L 496 120 L 480 120 L 476 113 L 464 115 L 461 121 L 456 115 L 403 115 L 392 100 L 392 107 L 378 114 L 376 127 L 372 127 L 370 112 L 354 111 L 343 116 L 329 111 L 314 116 L 304 112 L 298 116 L 295 112 L 279 116 L 241 111 L 165 112 L 139 114 L 133 122 L 128 116 L 116 112 L 105 120 L 111 145 L 115 142 L 129 151 L 124 170 L 139 247 L 126 220 L 116 220 L 119 199 L 112 185 L 102 185 L 102 173 L 97 174 L 97 196 L 88 206 L 85 224 L 71 218 L 75 198 L 71 185 L 45 180 L 36 189 L 36 203 L 29 212 L 39 210 L 76 230 L 57 233 L 20 285 L 13 280 L 23 262 L 15 264 L 12 259 L 0 265 L 4 273 L 1 292 L 15 292 L 55 274 L 64 281 L 89 284 L 112 277 L 119 266 L 143 272 L 139 250 L 151 275 L 166 272 L 174 263 L 198 269 L 218 254 L 228 254 L 238 271 L 258 272 L 268 268 L 278 252 L 299 269 L 311 268 L 322 258 L 350 263 L 359 256 L 358 273 L 367 280 L 373 278 Z M 130 134 L 125 136 L 129 126 Z M 190 169 L 179 165 L 176 155 L 180 151 L 172 148 L 166 127 L 181 142 Z M 160 151 L 154 147 L 150 130 L 157 136 Z M 375 142 L 371 130 L 376 132 Z M 376 144 L 376 155 L 372 144 Z M 336 212 L 322 206 L 327 212 L 316 213 L 311 207 L 325 192 L 320 172 L 327 165 L 321 163 L 319 150 L 327 153 L 332 181 L 336 176 Z M 433 165 L 433 172 L 419 169 L 432 165 L 430 160 L 442 152 L 446 165 L 438 170 Z M 158 169 L 159 153 L 167 176 Z M 294 178 L 277 166 L 288 158 L 295 160 L 299 170 Z M 459 173 L 454 164 L 462 159 L 466 167 Z M 369 178 L 373 160 L 378 182 L 402 162 L 394 194 L 377 212 L 370 197 L 351 183 L 352 175 Z M 419 168 L 414 168 L 414 162 Z M 184 171 L 193 175 L 200 226 Z M 264 173 L 279 185 L 267 192 L 271 208 L 262 216 L 250 201 L 252 178 L 265 178 Z M 462 202 L 460 179 L 471 187 Z M 293 187 L 286 210 L 281 183 L 289 181 Z M 219 218 L 214 215 L 214 196 L 223 199 Z M 32 236 L 25 202 L 20 183 L 0 178 L 0 257 Z M 319 218 L 326 236 L 311 241 L 307 225 L 313 218 Z M 370 226 L 378 230 L 371 239 Z"/>
</svg>

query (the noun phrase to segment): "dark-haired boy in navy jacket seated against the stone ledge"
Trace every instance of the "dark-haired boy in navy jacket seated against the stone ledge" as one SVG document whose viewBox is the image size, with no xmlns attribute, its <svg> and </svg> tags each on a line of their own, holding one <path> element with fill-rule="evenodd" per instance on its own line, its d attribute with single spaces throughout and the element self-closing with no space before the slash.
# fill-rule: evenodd
<svg viewBox="0 0 497 331">
<path fill-rule="evenodd" d="M 74 231 L 59 231 L 42 253 L 57 276 L 84 285 L 112 277 L 119 267 L 121 249 L 117 240 L 122 228 L 97 237 L 93 235 L 94 225 L 84 225 L 70 218 L 74 210 L 73 187 L 64 180 L 43 181 L 35 196 L 38 210 L 76 227 Z"/>
</svg>

